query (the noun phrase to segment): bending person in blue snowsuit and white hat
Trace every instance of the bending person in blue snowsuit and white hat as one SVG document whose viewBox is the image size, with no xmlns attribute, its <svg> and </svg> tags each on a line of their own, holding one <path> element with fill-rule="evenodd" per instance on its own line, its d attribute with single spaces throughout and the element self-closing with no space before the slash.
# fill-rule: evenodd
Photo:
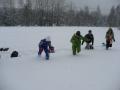
<svg viewBox="0 0 120 90">
<path fill-rule="evenodd" d="M 49 53 L 54 53 L 54 47 L 51 45 L 49 36 L 40 41 L 38 55 L 41 55 L 43 50 L 46 54 L 46 60 L 49 60 Z"/>
</svg>

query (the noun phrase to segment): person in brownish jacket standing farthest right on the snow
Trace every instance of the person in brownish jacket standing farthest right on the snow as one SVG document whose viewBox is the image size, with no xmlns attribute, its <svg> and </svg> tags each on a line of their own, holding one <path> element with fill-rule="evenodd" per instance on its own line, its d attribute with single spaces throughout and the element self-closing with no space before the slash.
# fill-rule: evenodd
<svg viewBox="0 0 120 90">
<path fill-rule="evenodd" d="M 114 32 L 111 27 L 106 32 L 105 38 L 106 38 L 106 50 L 108 50 L 109 47 L 112 47 L 112 42 L 113 41 L 115 42 Z"/>
</svg>

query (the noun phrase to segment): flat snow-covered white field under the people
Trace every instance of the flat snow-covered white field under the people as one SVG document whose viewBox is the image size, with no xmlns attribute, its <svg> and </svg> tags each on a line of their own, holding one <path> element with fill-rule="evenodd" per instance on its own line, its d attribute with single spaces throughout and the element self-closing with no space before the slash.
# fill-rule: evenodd
<svg viewBox="0 0 120 90">
<path fill-rule="evenodd" d="M 93 31 L 94 50 L 72 55 L 70 38 L 80 30 Z M 105 50 L 107 27 L 0 27 L 0 90 L 120 90 L 120 31 L 116 42 Z M 51 36 L 55 53 L 50 60 L 37 56 L 40 39 Z M 17 58 L 10 58 L 13 50 Z"/>
</svg>

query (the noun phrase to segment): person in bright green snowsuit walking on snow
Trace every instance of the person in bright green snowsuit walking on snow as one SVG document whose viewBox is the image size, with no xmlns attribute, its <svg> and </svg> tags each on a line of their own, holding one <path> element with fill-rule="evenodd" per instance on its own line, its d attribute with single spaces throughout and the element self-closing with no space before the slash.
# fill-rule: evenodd
<svg viewBox="0 0 120 90">
<path fill-rule="evenodd" d="M 77 31 L 71 38 L 72 43 L 72 52 L 73 55 L 76 55 L 76 53 L 79 53 L 81 51 L 81 44 L 82 40 L 84 40 L 84 37 L 80 34 L 80 31 Z"/>
</svg>

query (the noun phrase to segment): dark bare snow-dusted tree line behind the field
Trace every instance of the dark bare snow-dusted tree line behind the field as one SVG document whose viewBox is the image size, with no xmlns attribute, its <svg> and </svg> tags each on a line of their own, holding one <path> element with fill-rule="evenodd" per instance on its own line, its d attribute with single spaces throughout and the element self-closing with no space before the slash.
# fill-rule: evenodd
<svg viewBox="0 0 120 90">
<path fill-rule="evenodd" d="M 17 6 L 14 0 L 3 3 L 0 26 L 120 26 L 120 4 L 108 15 L 103 15 L 99 6 L 94 11 L 87 6 L 76 10 L 65 0 L 19 0 Z"/>
</svg>

